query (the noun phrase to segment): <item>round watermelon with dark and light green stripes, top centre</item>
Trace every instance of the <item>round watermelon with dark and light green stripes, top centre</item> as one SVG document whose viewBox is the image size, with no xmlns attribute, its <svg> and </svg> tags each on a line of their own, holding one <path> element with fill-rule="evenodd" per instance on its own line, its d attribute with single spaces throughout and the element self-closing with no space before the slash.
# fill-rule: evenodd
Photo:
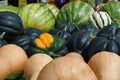
<svg viewBox="0 0 120 80">
<path fill-rule="evenodd" d="M 75 25 L 85 24 L 93 14 L 94 9 L 86 2 L 73 1 L 65 4 L 57 16 L 57 24 L 72 23 Z"/>
</svg>

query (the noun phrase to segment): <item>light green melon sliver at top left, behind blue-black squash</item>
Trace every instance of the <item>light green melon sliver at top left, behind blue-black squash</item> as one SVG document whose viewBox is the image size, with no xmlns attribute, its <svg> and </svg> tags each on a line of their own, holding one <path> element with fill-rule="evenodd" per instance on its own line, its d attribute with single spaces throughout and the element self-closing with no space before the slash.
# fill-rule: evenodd
<svg viewBox="0 0 120 80">
<path fill-rule="evenodd" d="M 10 12 L 14 12 L 14 13 L 18 13 L 19 11 L 19 7 L 15 7 L 15 6 L 3 6 L 0 7 L 0 11 L 10 11 Z"/>
</svg>

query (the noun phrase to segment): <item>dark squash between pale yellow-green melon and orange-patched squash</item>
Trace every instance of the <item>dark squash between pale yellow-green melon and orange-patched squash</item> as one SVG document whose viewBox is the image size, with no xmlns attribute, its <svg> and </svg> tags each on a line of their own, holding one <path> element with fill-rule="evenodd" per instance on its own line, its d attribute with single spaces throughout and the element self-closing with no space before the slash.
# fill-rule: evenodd
<svg viewBox="0 0 120 80">
<path fill-rule="evenodd" d="M 36 28 L 26 28 L 23 33 L 23 35 L 29 36 L 32 39 L 39 37 L 40 34 L 42 34 L 42 31 Z"/>
</svg>

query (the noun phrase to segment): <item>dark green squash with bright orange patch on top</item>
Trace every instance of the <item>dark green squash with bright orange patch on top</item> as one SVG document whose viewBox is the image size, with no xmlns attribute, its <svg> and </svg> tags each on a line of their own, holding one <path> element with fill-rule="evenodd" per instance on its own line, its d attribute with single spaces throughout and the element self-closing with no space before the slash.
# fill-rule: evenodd
<svg viewBox="0 0 120 80">
<path fill-rule="evenodd" d="M 52 57 L 65 55 L 68 52 L 66 41 L 49 33 L 40 34 L 32 40 L 29 50 L 32 53 L 46 53 Z"/>
</svg>

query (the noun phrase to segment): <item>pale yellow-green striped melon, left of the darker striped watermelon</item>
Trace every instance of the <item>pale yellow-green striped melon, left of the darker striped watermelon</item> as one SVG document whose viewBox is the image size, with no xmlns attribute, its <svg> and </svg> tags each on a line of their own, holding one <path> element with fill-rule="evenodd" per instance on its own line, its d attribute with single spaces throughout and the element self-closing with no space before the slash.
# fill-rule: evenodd
<svg viewBox="0 0 120 80">
<path fill-rule="evenodd" d="M 55 15 L 42 3 L 31 3 L 19 10 L 24 28 L 36 28 L 48 32 L 54 28 Z"/>
</svg>

